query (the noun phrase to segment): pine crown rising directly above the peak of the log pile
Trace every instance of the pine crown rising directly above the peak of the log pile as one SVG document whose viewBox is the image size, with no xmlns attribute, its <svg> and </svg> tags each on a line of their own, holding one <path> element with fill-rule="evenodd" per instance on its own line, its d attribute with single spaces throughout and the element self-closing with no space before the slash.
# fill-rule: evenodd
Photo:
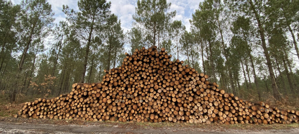
<svg viewBox="0 0 299 134">
<path fill-rule="evenodd" d="M 168 12 L 171 3 L 166 0 L 138 0 L 135 8 L 133 25 L 141 30 L 143 38 L 148 46 L 157 45 L 164 41 L 164 34 L 167 34 L 171 18 L 176 15 L 176 11 Z M 158 42 L 158 43 L 157 43 Z"/>
</svg>

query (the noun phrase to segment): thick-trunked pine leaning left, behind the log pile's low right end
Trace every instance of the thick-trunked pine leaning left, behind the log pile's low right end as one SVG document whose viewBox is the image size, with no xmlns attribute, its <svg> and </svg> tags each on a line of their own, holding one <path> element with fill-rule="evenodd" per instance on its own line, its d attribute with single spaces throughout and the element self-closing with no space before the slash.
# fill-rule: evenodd
<svg viewBox="0 0 299 134">
<path fill-rule="evenodd" d="M 226 2 L 230 9 L 237 15 L 248 17 L 250 21 L 254 22 L 251 25 L 255 26 L 256 33 L 260 36 L 261 46 L 266 57 L 266 63 L 270 74 L 273 96 L 276 100 L 281 99 L 275 83 L 273 66 L 265 38 L 265 32 L 267 29 L 279 18 L 279 16 L 276 15 L 278 14 L 278 8 L 275 6 L 269 6 L 270 1 L 266 0 L 226 0 Z"/>
</svg>

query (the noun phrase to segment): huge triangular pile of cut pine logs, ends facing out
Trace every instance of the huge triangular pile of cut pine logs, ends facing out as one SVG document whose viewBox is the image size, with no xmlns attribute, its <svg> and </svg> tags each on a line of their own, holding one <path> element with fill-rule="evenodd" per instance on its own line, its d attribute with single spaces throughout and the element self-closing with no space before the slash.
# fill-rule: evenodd
<svg viewBox="0 0 299 134">
<path fill-rule="evenodd" d="M 100 83 L 75 83 L 69 94 L 26 102 L 25 118 L 86 121 L 273 124 L 298 122 L 299 111 L 251 103 L 219 89 L 208 75 L 170 60 L 156 46 L 126 53 Z"/>
</svg>

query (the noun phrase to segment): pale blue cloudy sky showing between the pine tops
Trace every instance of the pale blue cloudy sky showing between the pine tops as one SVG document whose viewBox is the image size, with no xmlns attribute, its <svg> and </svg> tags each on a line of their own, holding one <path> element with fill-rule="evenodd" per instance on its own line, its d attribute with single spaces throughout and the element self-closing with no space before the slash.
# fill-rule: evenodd
<svg viewBox="0 0 299 134">
<path fill-rule="evenodd" d="M 13 4 L 20 4 L 22 0 L 11 0 Z M 109 1 L 109 0 L 107 0 Z M 137 7 L 137 0 L 110 0 L 112 13 L 118 15 L 121 22 L 121 27 L 124 32 L 132 28 L 132 15 L 135 14 L 135 7 Z M 176 10 L 177 14 L 173 20 L 181 20 L 186 26 L 186 29 L 190 31 L 190 22 L 192 13 L 198 9 L 199 2 L 203 0 L 167 0 L 171 3 L 169 11 Z M 52 10 L 55 13 L 55 23 L 65 20 L 65 14 L 61 11 L 62 5 L 68 5 L 74 10 L 78 10 L 77 0 L 48 0 L 52 5 Z"/>
</svg>

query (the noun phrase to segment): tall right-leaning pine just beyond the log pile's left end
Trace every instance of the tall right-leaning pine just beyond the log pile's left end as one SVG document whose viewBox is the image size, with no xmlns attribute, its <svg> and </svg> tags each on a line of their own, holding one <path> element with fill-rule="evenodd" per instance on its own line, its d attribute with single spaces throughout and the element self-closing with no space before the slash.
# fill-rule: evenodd
<svg viewBox="0 0 299 134">
<path fill-rule="evenodd" d="M 54 21 L 54 13 L 51 9 L 51 4 L 46 0 L 26 0 L 21 3 L 21 12 L 17 19 L 16 31 L 18 32 L 19 48 L 22 52 L 19 62 L 19 68 L 17 73 L 18 85 L 22 83 L 19 80 L 23 70 L 23 65 L 28 55 L 28 51 L 34 47 L 34 44 L 38 44 L 37 41 L 45 39 Z M 17 89 L 13 89 L 11 94 L 11 100 L 16 100 Z"/>
</svg>

